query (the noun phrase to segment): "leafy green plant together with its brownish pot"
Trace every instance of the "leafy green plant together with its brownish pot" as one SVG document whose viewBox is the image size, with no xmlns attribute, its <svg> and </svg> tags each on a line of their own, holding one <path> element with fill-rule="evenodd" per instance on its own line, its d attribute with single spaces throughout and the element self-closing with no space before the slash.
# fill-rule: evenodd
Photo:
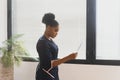
<svg viewBox="0 0 120 80">
<path fill-rule="evenodd" d="M 19 66 L 22 56 L 28 56 L 23 41 L 18 40 L 22 34 L 17 34 L 3 42 L 0 47 L 0 80 L 13 80 L 14 64 Z"/>
</svg>

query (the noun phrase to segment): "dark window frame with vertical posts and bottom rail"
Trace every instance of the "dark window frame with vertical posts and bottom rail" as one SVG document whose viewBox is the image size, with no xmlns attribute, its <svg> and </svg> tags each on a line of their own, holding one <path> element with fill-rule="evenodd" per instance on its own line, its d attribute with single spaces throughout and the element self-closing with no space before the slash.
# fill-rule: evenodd
<svg viewBox="0 0 120 80">
<path fill-rule="evenodd" d="M 68 61 L 69 64 L 92 64 L 92 65 L 120 65 L 120 60 L 96 59 L 96 0 L 87 0 L 87 37 L 86 37 L 86 59 L 75 59 Z M 7 0 L 7 39 L 12 36 L 12 0 Z M 24 57 L 23 57 L 24 59 Z M 24 59 L 24 61 L 35 62 Z"/>
</svg>

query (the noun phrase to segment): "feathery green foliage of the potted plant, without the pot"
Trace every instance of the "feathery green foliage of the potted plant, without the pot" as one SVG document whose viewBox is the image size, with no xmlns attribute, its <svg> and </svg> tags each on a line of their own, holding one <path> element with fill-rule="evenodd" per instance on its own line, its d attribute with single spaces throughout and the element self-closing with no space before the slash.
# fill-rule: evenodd
<svg viewBox="0 0 120 80">
<path fill-rule="evenodd" d="M 5 40 L 3 46 L 0 47 L 0 51 L 3 54 L 1 62 L 5 67 L 11 67 L 14 64 L 20 65 L 22 61 L 21 56 L 29 56 L 28 51 L 23 45 L 23 41 L 18 40 L 22 36 L 23 34 L 14 35 L 10 39 Z"/>
</svg>

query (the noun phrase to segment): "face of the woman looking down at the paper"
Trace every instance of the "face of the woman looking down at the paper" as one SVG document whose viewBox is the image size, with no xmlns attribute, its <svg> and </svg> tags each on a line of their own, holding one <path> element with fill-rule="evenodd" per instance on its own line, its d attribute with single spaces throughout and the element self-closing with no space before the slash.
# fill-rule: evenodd
<svg viewBox="0 0 120 80">
<path fill-rule="evenodd" d="M 49 36 L 55 38 L 58 34 L 59 26 L 55 26 L 55 27 L 48 26 L 47 28 L 48 28 Z"/>
</svg>

